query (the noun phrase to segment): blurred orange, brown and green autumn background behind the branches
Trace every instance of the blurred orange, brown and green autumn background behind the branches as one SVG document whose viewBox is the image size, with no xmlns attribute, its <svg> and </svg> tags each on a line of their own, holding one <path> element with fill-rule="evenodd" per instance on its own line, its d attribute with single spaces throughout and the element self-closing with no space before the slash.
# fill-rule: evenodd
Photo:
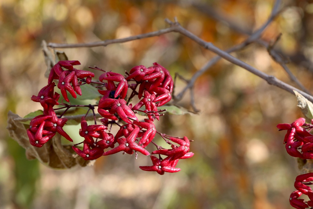
<svg viewBox="0 0 313 209">
<path fill-rule="evenodd" d="M 83 43 L 124 38 L 179 23 L 226 50 L 244 41 L 269 17 L 272 0 L 1 0 L 0 1 L 0 208 L 291 208 L 298 175 L 296 160 L 283 145 L 278 123 L 302 117 L 295 97 L 248 71 L 220 60 L 194 86 L 198 115 L 166 115 L 162 133 L 187 136 L 195 155 L 181 160 L 175 174 L 146 172 L 149 157 L 115 154 L 94 166 L 53 170 L 27 160 L 8 136 L 7 113 L 24 117 L 41 109 L 30 100 L 46 85 L 42 40 Z M 312 91 L 313 1 L 286 0 L 264 30 L 294 75 Z M 223 18 L 223 19 L 222 19 Z M 79 69 L 96 65 L 123 73 L 135 65 L 166 67 L 186 79 L 215 55 L 176 33 L 106 47 L 64 50 Z M 295 85 L 264 46 L 233 53 L 260 71 Z M 179 79 L 175 93 L 185 86 Z M 297 87 L 297 86 L 296 86 Z M 177 104 L 191 109 L 190 94 Z"/>
</svg>

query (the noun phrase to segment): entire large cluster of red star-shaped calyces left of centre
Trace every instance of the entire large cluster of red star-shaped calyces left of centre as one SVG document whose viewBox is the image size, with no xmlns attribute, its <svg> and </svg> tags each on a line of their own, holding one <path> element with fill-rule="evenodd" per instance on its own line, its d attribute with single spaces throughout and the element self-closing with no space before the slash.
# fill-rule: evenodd
<svg viewBox="0 0 313 209">
<path fill-rule="evenodd" d="M 103 117 L 100 119 L 102 125 L 97 125 L 96 121 L 95 124 L 88 125 L 85 116 L 83 116 L 79 130 L 80 136 L 84 138 L 84 141 L 81 142 L 83 149 L 75 147 L 78 144 L 73 145 L 74 151 L 85 160 L 93 160 L 102 155 L 118 152 L 123 152 L 123 154 L 135 152 L 136 157 L 137 152 L 150 155 L 145 148 L 155 138 L 156 133 L 160 134 L 167 144 L 171 145 L 171 149 L 164 149 L 152 142 L 157 150 L 151 154 L 158 155 L 158 158 L 151 155 L 153 165 L 140 166 L 142 170 L 156 171 L 161 175 L 164 172 L 177 172 L 180 170 L 176 168 L 178 160 L 193 156 L 193 153 L 189 152 L 190 141 L 187 137 L 177 138 L 159 133 L 153 123 L 155 118 L 159 120 L 159 117 L 163 115 L 159 113 L 164 110 L 158 110 L 157 107 L 166 104 L 172 98 L 174 82 L 167 69 L 157 63 L 148 68 L 138 65 L 133 67 L 130 73 L 126 72 L 126 76 L 105 71 L 99 76 L 100 82 L 94 82 L 91 80 L 94 73 L 77 70 L 73 67 L 73 65 L 79 64 L 79 61 L 59 61 L 51 69 L 48 85 L 39 91 L 38 96 L 32 97 L 33 101 L 40 102 L 44 107 L 44 114 L 35 117 L 27 129 L 30 143 L 33 146 L 43 146 L 56 132 L 69 141 L 73 141 L 62 129 L 67 121 L 66 118 L 61 118 L 64 113 L 57 117 L 53 107 L 54 105 L 63 105 L 67 111 L 70 107 L 77 107 L 77 105 L 58 102 L 60 95 L 54 93 L 55 83 L 53 82 L 56 79 L 59 80 L 57 86 L 67 102 L 69 102 L 67 92 L 74 98 L 77 97 L 76 94 L 82 94 L 81 85 L 95 83 L 102 85 L 97 86 L 98 88 L 105 87 L 105 90 L 98 90 L 103 95 L 98 103 L 98 113 Z M 99 68 L 94 69 L 101 70 Z M 129 94 L 127 95 L 127 93 Z M 135 96 L 141 100 L 133 105 L 130 101 Z M 97 105 L 85 107 L 89 107 L 94 112 L 95 106 Z M 141 109 L 143 106 L 145 107 L 144 110 Z M 144 112 L 148 118 L 139 121 L 136 116 L 137 112 Z M 108 130 L 109 125 L 120 126 L 120 130 L 115 136 L 110 133 L 110 129 Z M 116 143 L 118 143 L 117 146 L 115 146 Z M 105 149 L 109 147 L 112 149 L 106 151 Z M 162 159 L 161 155 L 166 157 Z"/>
</svg>

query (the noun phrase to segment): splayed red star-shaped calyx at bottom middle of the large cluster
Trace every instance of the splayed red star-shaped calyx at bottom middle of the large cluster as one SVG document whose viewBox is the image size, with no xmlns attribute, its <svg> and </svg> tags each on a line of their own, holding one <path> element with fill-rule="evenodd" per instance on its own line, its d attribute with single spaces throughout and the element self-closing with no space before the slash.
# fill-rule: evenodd
<svg viewBox="0 0 313 209">
<path fill-rule="evenodd" d="M 149 155 L 150 153 L 147 150 L 143 149 L 135 142 L 139 131 L 140 128 L 136 127 L 127 138 L 118 138 L 117 143 L 119 146 L 103 153 L 103 155 L 115 154 L 121 151 L 124 151 L 127 154 L 133 154 L 134 150 L 140 152 L 141 154 Z"/>
</svg>

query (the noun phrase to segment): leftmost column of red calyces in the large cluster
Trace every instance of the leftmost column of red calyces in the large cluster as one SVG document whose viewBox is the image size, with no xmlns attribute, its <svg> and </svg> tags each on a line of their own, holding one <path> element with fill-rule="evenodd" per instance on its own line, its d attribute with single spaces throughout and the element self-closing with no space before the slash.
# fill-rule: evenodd
<svg viewBox="0 0 313 209">
<path fill-rule="evenodd" d="M 89 71 L 82 71 L 73 68 L 73 65 L 80 65 L 79 61 L 59 61 L 50 71 L 48 85 L 44 86 L 38 93 L 38 96 L 33 95 L 31 99 L 34 102 L 40 102 L 44 108 L 44 114 L 38 115 L 30 122 L 30 126 L 27 129 L 27 135 L 30 144 L 36 147 L 42 147 L 49 139 L 51 139 L 56 132 L 64 136 L 67 140 L 73 141 L 69 135 L 63 130 L 63 126 L 67 122 L 67 118 L 57 117 L 54 112 L 54 105 L 59 105 L 60 95 L 54 92 L 55 83 L 53 79 L 59 79 L 58 87 L 61 89 L 62 95 L 66 101 L 68 100 L 66 91 L 76 98 L 76 91 L 81 95 L 79 85 L 81 81 L 78 78 L 87 78 L 90 83 L 91 77 L 94 74 Z M 63 70 L 62 67 L 68 69 Z M 73 86 L 70 85 L 70 82 Z"/>
</svg>

